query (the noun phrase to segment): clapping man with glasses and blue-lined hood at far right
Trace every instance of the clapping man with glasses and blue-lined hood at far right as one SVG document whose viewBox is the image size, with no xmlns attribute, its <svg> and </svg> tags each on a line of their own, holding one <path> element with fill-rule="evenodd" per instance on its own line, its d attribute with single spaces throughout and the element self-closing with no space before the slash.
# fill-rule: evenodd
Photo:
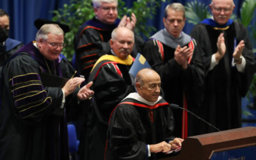
<svg viewBox="0 0 256 160">
<path fill-rule="evenodd" d="M 248 91 L 255 72 L 252 44 L 246 28 L 230 19 L 232 0 L 212 0 L 212 19 L 205 19 L 191 31 L 204 52 L 205 93 L 202 118 L 221 130 L 241 127 L 241 97 Z M 201 124 L 200 133 L 214 132 Z"/>
</svg>

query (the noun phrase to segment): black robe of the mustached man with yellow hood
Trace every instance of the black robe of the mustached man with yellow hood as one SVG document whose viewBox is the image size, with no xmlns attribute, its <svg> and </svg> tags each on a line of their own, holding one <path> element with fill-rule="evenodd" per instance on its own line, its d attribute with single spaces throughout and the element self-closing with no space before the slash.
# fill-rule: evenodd
<svg viewBox="0 0 256 160">
<path fill-rule="evenodd" d="M 129 69 L 132 65 L 131 56 L 129 56 L 130 63 L 126 65 L 122 64 L 122 60 L 119 58 L 119 61 L 115 61 L 116 56 L 106 56 L 111 56 L 114 59 L 99 59 L 89 77 L 89 81 L 93 81 L 92 90 L 95 95 L 93 107 L 88 111 L 83 126 L 86 131 L 82 131 L 81 134 L 83 135 L 79 148 L 81 160 L 104 159 L 108 119 L 111 111 L 118 102 L 135 91 L 129 76 Z"/>
</svg>

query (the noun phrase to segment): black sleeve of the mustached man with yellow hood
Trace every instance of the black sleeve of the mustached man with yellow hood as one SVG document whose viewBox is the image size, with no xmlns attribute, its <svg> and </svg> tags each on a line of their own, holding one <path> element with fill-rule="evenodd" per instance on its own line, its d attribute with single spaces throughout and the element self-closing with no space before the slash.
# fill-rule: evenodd
<svg viewBox="0 0 256 160">
<path fill-rule="evenodd" d="M 93 81 L 93 91 L 97 102 L 97 106 L 93 108 L 99 109 L 100 121 L 108 124 L 113 108 L 135 89 L 116 72 L 112 63 L 108 63 L 100 68 L 99 75 Z"/>
</svg>

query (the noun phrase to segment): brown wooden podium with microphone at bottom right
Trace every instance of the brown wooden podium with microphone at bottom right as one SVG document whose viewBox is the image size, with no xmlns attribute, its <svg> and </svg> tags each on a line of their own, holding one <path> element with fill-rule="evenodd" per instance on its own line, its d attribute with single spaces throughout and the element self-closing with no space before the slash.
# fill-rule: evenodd
<svg viewBox="0 0 256 160">
<path fill-rule="evenodd" d="M 211 159 L 213 154 L 219 152 L 246 147 L 256 148 L 256 127 L 243 127 L 190 136 L 183 141 L 179 154 L 161 160 L 205 160 Z M 255 155 L 255 152 L 253 154 Z M 240 157 L 240 159 L 243 158 Z"/>
</svg>

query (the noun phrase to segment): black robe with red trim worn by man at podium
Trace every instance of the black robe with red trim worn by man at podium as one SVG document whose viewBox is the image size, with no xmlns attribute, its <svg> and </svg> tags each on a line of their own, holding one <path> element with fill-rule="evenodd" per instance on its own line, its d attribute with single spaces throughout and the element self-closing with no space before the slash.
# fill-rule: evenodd
<svg viewBox="0 0 256 160">
<path fill-rule="evenodd" d="M 109 118 L 106 160 L 143 160 L 164 157 L 151 153 L 147 145 L 170 141 L 173 136 L 173 113 L 164 99 L 154 106 L 127 98 L 116 106 Z"/>
</svg>

